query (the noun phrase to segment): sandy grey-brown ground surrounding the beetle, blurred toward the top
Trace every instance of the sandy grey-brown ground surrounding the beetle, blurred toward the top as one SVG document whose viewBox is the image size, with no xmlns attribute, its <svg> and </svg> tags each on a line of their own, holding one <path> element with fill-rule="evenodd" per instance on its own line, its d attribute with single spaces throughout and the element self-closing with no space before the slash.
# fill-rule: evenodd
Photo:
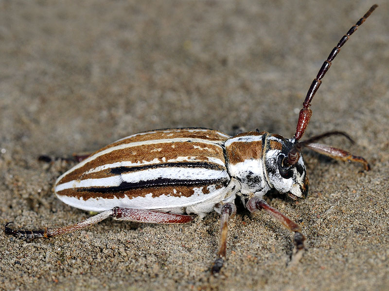
<svg viewBox="0 0 389 291">
<path fill-rule="evenodd" d="M 147 3 L 145 3 L 147 2 Z M 290 137 L 305 93 L 365 1 L 0 1 L 0 224 L 60 226 L 88 217 L 55 198 L 70 157 L 134 132 L 170 127 L 267 130 Z M 388 290 L 388 2 L 334 61 L 305 137 L 359 164 L 305 152 L 307 199 L 267 201 L 301 224 L 292 235 L 239 209 L 228 263 L 210 276 L 219 218 L 187 225 L 112 219 L 58 238 L 0 234 L 3 290 Z"/>
</svg>

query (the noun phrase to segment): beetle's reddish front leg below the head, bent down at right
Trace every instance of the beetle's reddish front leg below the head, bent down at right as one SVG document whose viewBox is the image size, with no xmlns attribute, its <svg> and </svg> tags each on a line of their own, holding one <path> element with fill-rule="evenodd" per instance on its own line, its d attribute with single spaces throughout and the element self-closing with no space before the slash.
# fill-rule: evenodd
<svg viewBox="0 0 389 291">
<path fill-rule="evenodd" d="M 292 256 L 292 260 L 290 264 L 297 263 L 301 259 L 304 251 L 305 236 L 303 236 L 301 233 L 301 227 L 293 220 L 291 220 L 289 217 L 287 217 L 285 214 L 271 207 L 266 203 L 265 200 L 259 197 L 250 198 L 246 203 L 246 208 L 251 213 L 256 212 L 258 210 L 265 210 L 267 214 L 273 217 L 274 220 L 281 223 L 286 229 L 289 229 L 290 231 L 294 231 L 295 251 L 294 251 L 294 255 Z"/>
</svg>

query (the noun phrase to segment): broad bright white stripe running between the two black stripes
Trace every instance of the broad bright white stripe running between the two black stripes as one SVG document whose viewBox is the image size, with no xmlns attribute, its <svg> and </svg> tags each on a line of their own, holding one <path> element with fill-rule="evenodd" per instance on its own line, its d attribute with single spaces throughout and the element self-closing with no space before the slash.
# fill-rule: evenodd
<svg viewBox="0 0 389 291">
<path fill-rule="evenodd" d="M 154 180 L 157 178 L 180 180 L 209 180 L 229 178 L 227 171 L 211 170 L 203 168 L 167 167 L 158 169 L 145 169 L 132 173 L 125 173 L 107 178 L 72 180 L 55 186 L 55 192 L 72 188 L 89 187 L 117 187 L 122 182 L 138 183 L 140 181 Z"/>
</svg>

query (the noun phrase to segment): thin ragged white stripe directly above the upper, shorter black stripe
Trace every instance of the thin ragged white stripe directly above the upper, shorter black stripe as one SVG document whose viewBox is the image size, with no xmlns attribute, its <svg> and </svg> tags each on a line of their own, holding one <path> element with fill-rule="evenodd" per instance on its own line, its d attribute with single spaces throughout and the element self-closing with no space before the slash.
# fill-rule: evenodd
<svg viewBox="0 0 389 291">
<path fill-rule="evenodd" d="M 201 159 L 198 159 L 199 157 L 197 156 L 187 156 L 187 157 L 177 157 L 176 159 L 170 159 L 170 160 L 165 160 L 165 161 L 160 161 L 158 158 L 155 158 L 151 161 L 141 161 L 141 162 L 130 162 L 130 161 L 123 161 L 123 162 L 114 162 L 110 164 L 105 164 L 102 166 L 98 166 L 96 168 L 92 168 L 85 172 L 85 174 L 90 174 L 90 173 L 96 173 L 100 172 L 106 169 L 112 169 L 112 168 L 117 168 L 117 167 L 132 167 L 132 166 L 143 166 L 143 165 L 152 165 L 152 164 L 158 164 L 158 163 L 163 163 L 163 162 L 204 162 L 204 157 L 201 157 Z M 206 157 L 209 162 L 213 162 L 222 166 L 226 166 L 226 164 L 217 158 L 213 157 Z"/>
</svg>

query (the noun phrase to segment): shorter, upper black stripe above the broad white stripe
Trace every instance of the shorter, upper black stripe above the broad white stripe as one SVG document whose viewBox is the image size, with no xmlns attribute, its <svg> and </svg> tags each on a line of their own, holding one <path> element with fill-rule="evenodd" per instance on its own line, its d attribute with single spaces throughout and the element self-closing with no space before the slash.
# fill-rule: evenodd
<svg viewBox="0 0 389 291">
<path fill-rule="evenodd" d="M 165 168 L 165 167 L 203 168 L 203 169 L 210 169 L 210 170 L 226 169 L 221 165 L 214 164 L 211 162 L 166 162 L 166 163 L 158 163 L 158 164 L 151 164 L 151 165 L 144 165 L 144 166 L 116 167 L 116 168 L 111 168 L 110 172 L 111 174 L 120 175 L 124 173 L 136 172 L 136 171 L 141 171 L 146 169 Z"/>
</svg>

